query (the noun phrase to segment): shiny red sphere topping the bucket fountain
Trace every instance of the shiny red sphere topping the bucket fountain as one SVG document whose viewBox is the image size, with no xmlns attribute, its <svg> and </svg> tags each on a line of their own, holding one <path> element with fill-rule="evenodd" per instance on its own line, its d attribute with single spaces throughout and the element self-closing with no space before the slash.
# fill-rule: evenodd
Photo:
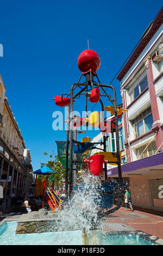
<svg viewBox="0 0 163 256">
<path fill-rule="evenodd" d="M 90 69 L 93 73 L 96 73 L 100 64 L 101 60 L 98 54 L 95 51 L 89 49 L 80 53 L 78 57 L 78 68 L 83 73 L 90 71 Z"/>
</svg>

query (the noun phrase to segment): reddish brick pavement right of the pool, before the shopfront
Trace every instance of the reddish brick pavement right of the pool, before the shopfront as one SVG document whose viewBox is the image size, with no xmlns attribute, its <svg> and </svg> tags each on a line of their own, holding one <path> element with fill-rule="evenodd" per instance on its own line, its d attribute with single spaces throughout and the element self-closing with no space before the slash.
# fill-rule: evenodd
<svg viewBox="0 0 163 256">
<path fill-rule="evenodd" d="M 103 231 L 141 230 L 163 239 L 163 217 L 121 207 L 103 221 Z"/>
</svg>

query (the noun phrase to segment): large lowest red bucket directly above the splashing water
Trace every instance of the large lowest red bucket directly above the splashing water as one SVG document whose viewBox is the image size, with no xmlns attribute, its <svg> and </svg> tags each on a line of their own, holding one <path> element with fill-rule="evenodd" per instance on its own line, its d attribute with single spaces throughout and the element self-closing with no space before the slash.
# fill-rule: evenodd
<svg viewBox="0 0 163 256">
<path fill-rule="evenodd" d="M 104 155 L 93 155 L 90 156 L 85 163 L 88 163 L 90 172 L 94 176 L 101 176 L 103 173 Z"/>
</svg>

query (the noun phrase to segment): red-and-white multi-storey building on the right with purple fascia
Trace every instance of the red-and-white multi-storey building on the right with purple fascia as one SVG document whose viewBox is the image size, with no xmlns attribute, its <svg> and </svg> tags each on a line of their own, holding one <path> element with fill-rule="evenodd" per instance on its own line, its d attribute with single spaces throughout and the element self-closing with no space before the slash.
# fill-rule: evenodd
<svg viewBox="0 0 163 256">
<path fill-rule="evenodd" d="M 121 70 L 128 177 L 133 205 L 163 211 L 163 8 Z M 117 177 L 117 168 L 108 176 Z"/>
</svg>

